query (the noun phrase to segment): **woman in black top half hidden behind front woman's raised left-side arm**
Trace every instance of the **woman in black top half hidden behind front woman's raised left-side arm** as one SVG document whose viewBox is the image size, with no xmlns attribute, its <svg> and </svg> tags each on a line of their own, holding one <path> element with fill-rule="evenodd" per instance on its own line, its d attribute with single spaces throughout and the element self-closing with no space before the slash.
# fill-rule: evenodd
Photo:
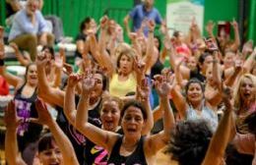
<svg viewBox="0 0 256 165">
<path fill-rule="evenodd" d="M 56 110 L 58 110 L 58 116 L 57 116 L 57 123 L 61 127 L 61 129 L 64 131 L 64 133 L 68 136 L 68 138 L 71 140 L 78 160 L 80 164 L 84 164 L 85 158 L 84 158 L 84 151 L 85 147 L 87 145 L 87 139 L 81 135 L 72 125 L 74 121 L 70 120 L 69 112 L 63 112 L 64 108 L 64 100 L 65 100 L 65 91 L 61 90 L 60 88 L 54 88 L 49 85 L 46 79 L 45 75 L 45 64 L 47 63 L 47 59 L 44 54 L 40 54 L 39 58 L 36 61 L 37 69 L 38 69 L 38 80 L 39 80 L 39 96 L 47 103 L 56 106 Z M 101 94 L 106 89 L 106 78 L 102 73 L 96 73 L 95 79 L 97 80 L 96 83 L 96 90 L 94 91 L 94 94 L 92 95 L 92 98 L 90 99 L 90 117 L 92 117 L 94 120 L 99 121 L 99 106 L 101 102 Z M 79 82 L 79 80 L 77 80 Z M 70 82 L 68 82 L 70 83 Z M 77 83 L 76 83 L 77 84 Z M 76 85 L 68 86 L 67 90 L 71 88 L 71 91 L 75 92 Z M 70 91 L 70 90 L 69 90 Z M 68 101 L 71 101 L 69 99 L 66 99 Z M 77 101 L 74 101 L 74 104 L 78 103 L 79 97 L 76 98 Z M 70 104 L 73 102 L 69 102 Z M 69 104 L 68 103 L 68 104 Z M 69 121 L 68 121 L 68 119 Z M 100 122 L 97 122 L 98 125 L 100 125 Z"/>
</svg>

